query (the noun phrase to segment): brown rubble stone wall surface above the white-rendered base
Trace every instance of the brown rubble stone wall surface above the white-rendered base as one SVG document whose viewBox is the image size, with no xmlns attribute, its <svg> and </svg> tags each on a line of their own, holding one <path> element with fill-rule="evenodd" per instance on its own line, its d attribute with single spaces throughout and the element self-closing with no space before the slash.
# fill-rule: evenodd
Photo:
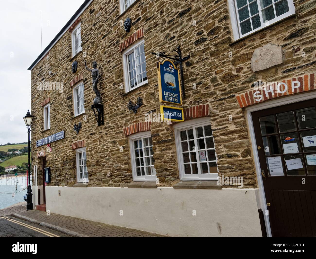
<svg viewBox="0 0 316 259">
<path fill-rule="evenodd" d="M 34 154 L 46 147 L 36 148 L 36 140 L 64 130 L 65 138 L 51 143 L 52 151 L 46 152 L 47 166 L 51 167 L 48 185 L 76 183 L 72 144 L 85 140 L 89 186 L 125 187 L 132 181 L 132 171 L 124 128 L 144 122 L 149 111 L 160 112 L 157 58 L 151 52 L 169 53 L 181 45 L 183 55 L 191 56 L 184 64 L 185 98 L 181 107 L 209 105 L 219 174 L 244 176 L 244 187 L 257 187 L 245 111 L 236 96 L 252 90 L 253 82 L 259 79 L 281 82 L 315 72 L 316 1 L 294 0 L 294 4 L 295 16 L 233 42 L 225 0 L 139 0 L 123 15 L 119 12 L 119 0 L 94 0 L 80 17 L 82 52 L 72 59 L 71 34 L 67 31 L 32 69 L 33 163 L 39 165 L 40 172 L 40 160 Z M 132 20 L 129 33 L 122 26 L 126 17 Z M 120 87 L 124 84 L 120 46 L 140 29 L 145 41 L 148 84 L 125 93 Z M 252 53 L 269 42 L 282 46 L 284 62 L 252 72 Z M 75 74 L 71 71 L 73 60 L 78 62 Z M 100 69 L 98 87 L 105 110 L 105 123 L 100 127 L 91 110 L 94 92 L 84 60 L 89 67 L 96 60 Z M 85 114 L 74 117 L 70 82 L 81 73 Z M 37 84 L 43 80 L 63 82 L 62 91 L 38 90 Z M 134 114 L 126 105 L 129 100 L 136 102 L 138 97 L 144 104 Z M 47 98 L 50 98 L 51 129 L 44 131 L 41 103 Z M 73 126 L 79 121 L 82 129 L 76 134 Z M 179 182 L 173 124 L 152 122 L 151 134 L 159 185 L 172 186 Z"/>
</svg>

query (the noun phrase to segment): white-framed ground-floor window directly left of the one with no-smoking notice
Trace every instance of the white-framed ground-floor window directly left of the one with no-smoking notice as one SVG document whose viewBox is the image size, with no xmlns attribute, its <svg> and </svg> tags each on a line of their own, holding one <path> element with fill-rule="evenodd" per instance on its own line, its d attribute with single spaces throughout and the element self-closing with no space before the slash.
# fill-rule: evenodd
<svg viewBox="0 0 316 259">
<path fill-rule="evenodd" d="M 130 136 L 131 165 L 134 181 L 155 181 L 155 159 L 150 132 Z"/>
</svg>

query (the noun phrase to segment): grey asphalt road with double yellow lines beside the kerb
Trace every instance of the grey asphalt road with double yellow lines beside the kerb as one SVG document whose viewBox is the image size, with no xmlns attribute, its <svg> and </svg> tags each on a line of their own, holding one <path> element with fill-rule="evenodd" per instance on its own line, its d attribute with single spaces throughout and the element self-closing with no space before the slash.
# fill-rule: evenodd
<svg viewBox="0 0 316 259">
<path fill-rule="evenodd" d="M 0 237 L 70 237 L 12 216 L 0 217 Z"/>
</svg>

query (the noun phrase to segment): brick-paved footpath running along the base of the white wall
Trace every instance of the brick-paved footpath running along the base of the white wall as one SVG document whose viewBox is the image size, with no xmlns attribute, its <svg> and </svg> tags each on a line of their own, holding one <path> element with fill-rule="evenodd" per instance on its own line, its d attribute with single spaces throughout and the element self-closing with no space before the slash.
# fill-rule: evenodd
<svg viewBox="0 0 316 259">
<path fill-rule="evenodd" d="M 16 214 L 35 219 L 38 221 L 37 223 L 46 222 L 50 225 L 59 226 L 89 237 L 164 237 L 155 233 L 113 226 L 100 222 L 63 216 L 55 213 L 51 213 L 50 216 L 47 216 L 46 212 L 39 210 L 23 211 Z M 13 216 L 18 217 L 18 215 Z"/>
</svg>

